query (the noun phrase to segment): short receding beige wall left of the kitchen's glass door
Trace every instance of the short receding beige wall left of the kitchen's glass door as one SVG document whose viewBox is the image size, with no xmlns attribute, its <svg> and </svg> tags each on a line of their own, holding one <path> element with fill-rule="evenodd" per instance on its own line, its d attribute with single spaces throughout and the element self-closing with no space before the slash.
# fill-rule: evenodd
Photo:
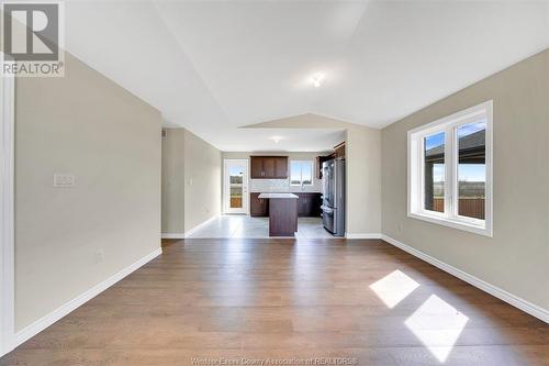
<svg viewBox="0 0 549 366">
<path fill-rule="evenodd" d="M 184 229 L 186 232 L 221 213 L 221 152 L 186 130 Z"/>
</svg>

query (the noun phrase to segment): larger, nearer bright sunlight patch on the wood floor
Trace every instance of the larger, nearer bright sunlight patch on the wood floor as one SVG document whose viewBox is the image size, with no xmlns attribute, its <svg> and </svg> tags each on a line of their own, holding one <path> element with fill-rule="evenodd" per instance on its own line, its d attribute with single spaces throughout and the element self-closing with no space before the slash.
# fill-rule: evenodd
<svg viewBox="0 0 549 366">
<path fill-rule="evenodd" d="M 432 295 L 406 321 L 406 326 L 441 363 L 450 354 L 469 318 Z"/>
</svg>

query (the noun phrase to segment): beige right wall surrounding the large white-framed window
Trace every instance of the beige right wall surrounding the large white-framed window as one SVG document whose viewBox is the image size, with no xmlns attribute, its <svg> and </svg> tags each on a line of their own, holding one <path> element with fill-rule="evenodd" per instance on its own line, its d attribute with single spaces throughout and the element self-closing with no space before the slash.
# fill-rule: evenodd
<svg viewBox="0 0 549 366">
<path fill-rule="evenodd" d="M 406 217 L 406 132 L 494 101 L 494 235 Z M 383 233 L 549 309 L 549 51 L 382 132 Z M 401 230 L 402 225 L 402 230 Z"/>
</svg>

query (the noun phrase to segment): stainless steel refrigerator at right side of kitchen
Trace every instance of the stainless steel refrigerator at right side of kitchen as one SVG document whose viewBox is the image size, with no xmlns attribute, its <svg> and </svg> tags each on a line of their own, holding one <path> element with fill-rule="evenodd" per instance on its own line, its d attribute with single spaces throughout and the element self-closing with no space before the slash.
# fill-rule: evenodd
<svg viewBox="0 0 549 366">
<path fill-rule="evenodd" d="M 335 158 L 322 166 L 322 221 L 335 236 L 345 236 L 345 159 Z"/>
</svg>

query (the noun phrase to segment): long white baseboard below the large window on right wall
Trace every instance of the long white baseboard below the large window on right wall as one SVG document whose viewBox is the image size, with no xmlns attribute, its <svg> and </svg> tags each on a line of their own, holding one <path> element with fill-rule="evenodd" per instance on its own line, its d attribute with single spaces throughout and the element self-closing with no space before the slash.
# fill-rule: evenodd
<svg viewBox="0 0 549 366">
<path fill-rule="evenodd" d="M 537 304 L 534 304 L 534 303 L 531 303 L 523 298 L 519 298 L 513 293 L 509 293 L 509 292 L 498 288 L 497 286 L 494 286 L 492 284 L 489 284 L 489 282 L 480 279 L 480 278 L 477 278 L 477 277 L 474 277 L 474 276 L 472 276 L 472 275 L 470 275 L 470 274 L 468 274 L 459 268 L 450 266 L 449 264 L 446 264 L 446 263 L 444 263 L 435 257 L 432 257 L 430 255 L 425 254 L 416 248 L 413 248 L 412 246 L 403 244 L 395 239 L 392 239 L 392 237 L 386 236 L 384 234 L 381 235 L 381 239 L 383 241 L 388 242 L 389 244 L 392 244 L 392 245 L 403 249 L 404 252 L 407 252 L 407 253 L 412 254 L 413 256 L 418 257 L 419 259 L 423 259 L 423 260 L 434 265 L 435 267 L 438 267 L 438 268 L 442 269 L 444 271 L 449 273 L 450 275 L 456 276 L 459 279 L 462 279 L 466 282 L 498 298 L 500 300 L 503 300 L 503 301 L 512 304 L 513 307 L 518 308 L 518 309 L 523 310 L 524 312 L 545 321 L 546 323 L 549 323 L 549 310 L 544 309 L 541 307 L 538 307 Z"/>
</svg>

